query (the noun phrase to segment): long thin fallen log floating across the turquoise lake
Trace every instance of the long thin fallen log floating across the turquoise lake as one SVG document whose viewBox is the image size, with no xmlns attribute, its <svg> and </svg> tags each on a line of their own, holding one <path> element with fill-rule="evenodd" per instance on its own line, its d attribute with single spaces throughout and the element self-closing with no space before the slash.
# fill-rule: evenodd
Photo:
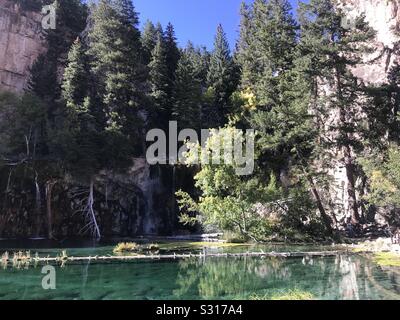
<svg viewBox="0 0 400 320">
<path fill-rule="evenodd" d="M 318 251 L 318 252 L 243 252 L 243 253 L 186 253 L 186 254 L 151 254 L 151 255 L 129 255 L 129 256 L 86 256 L 86 257 L 69 257 L 66 252 L 63 251 L 60 256 L 57 257 L 39 257 L 38 254 L 35 256 L 24 255 L 22 252 L 14 253 L 11 257 L 8 253 L 3 254 L 1 257 L 1 263 L 7 265 L 8 263 L 62 263 L 66 262 L 84 262 L 84 261 L 135 261 L 135 260 L 160 260 L 160 259 L 188 259 L 188 258 L 240 258 L 240 257 L 259 257 L 259 258 L 296 258 L 296 257 L 328 257 L 336 256 L 340 254 L 351 254 L 350 251 Z"/>
</svg>

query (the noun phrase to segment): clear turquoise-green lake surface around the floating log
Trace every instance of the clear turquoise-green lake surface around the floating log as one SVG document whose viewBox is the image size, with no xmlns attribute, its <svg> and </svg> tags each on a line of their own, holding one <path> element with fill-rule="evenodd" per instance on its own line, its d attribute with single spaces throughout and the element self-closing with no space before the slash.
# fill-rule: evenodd
<svg viewBox="0 0 400 320">
<path fill-rule="evenodd" d="M 51 246 L 52 248 L 48 248 Z M 56 247 L 56 249 L 54 248 Z M 0 253 L 31 249 L 40 255 L 112 254 L 110 243 L 0 241 Z M 208 248 L 304 251 L 315 247 Z M 320 248 L 317 248 L 320 249 Z M 193 251 L 192 251 L 193 252 Z M 0 269 L 0 299 L 248 299 L 298 289 L 317 299 L 400 299 L 400 269 L 382 268 L 359 255 L 324 258 L 192 258 L 124 263 L 74 263 L 56 268 L 56 289 L 42 288 L 42 266 Z"/>
</svg>

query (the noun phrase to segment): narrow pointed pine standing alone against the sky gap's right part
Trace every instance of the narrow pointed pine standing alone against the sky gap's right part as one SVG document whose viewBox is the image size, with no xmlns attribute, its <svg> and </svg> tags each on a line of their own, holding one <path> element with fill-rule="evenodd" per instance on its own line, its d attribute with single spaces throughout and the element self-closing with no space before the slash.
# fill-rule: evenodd
<svg viewBox="0 0 400 320">
<path fill-rule="evenodd" d="M 213 110 L 211 111 L 214 111 L 216 119 L 214 126 L 220 126 L 225 122 L 229 99 L 236 90 L 236 80 L 229 43 L 222 25 L 219 25 L 207 74 L 208 87 L 212 96 Z"/>
</svg>

